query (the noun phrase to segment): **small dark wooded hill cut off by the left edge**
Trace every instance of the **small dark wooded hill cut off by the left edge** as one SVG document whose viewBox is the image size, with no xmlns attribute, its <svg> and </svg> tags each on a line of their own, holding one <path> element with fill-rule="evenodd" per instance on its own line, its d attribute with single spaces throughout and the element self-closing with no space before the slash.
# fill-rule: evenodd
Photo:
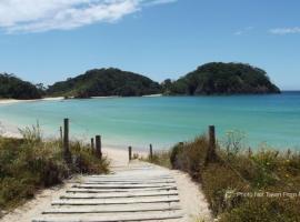
<svg viewBox="0 0 300 222">
<path fill-rule="evenodd" d="M 13 74 L 0 73 L 0 99 L 40 99 L 42 91 Z"/>
</svg>

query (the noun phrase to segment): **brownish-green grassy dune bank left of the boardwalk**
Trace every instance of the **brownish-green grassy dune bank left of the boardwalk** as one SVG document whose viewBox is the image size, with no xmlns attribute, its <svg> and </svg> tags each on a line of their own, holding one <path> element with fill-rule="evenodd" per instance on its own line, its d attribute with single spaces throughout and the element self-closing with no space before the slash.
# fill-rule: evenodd
<svg viewBox="0 0 300 222">
<path fill-rule="evenodd" d="M 76 173 L 108 172 L 108 161 L 97 159 L 81 142 L 70 143 L 72 162 L 67 164 L 60 141 L 42 140 L 38 128 L 26 129 L 22 134 L 23 139 L 0 137 L 0 210 L 11 210 L 33 198 L 37 190 Z"/>
</svg>

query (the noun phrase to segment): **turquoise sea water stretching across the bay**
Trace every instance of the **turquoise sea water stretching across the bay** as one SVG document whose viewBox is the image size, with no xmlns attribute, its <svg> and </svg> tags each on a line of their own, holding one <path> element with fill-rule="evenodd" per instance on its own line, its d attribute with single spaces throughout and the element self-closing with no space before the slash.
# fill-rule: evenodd
<svg viewBox="0 0 300 222">
<path fill-rule="evenodd" d="M 0 121 L 24 128 L 39 121 L 43 134 L 59 137 L 63 118 L 74 139 L 102 135 L 104 145 L 157 149 L 192 140 L 214 124 L 218 140 L 239 131 L 243 143 L 300 150 L 300 92 L 272 95 L 107 98 L 0 105 Z"/>
</svg>

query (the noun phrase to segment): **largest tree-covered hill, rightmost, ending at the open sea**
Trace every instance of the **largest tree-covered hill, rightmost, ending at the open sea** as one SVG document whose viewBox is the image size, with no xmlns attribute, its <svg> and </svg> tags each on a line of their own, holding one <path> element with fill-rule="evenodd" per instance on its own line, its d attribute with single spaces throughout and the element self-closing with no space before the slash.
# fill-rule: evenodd
<svg viewBox="0 0 300 222">
<path fill-rule="evenodd" d="M 267 72 L 244 63 L 212 62 L 177 81 L 162 82 L 164 94 L 262 94 L 280 93 Z"/>
</svg>

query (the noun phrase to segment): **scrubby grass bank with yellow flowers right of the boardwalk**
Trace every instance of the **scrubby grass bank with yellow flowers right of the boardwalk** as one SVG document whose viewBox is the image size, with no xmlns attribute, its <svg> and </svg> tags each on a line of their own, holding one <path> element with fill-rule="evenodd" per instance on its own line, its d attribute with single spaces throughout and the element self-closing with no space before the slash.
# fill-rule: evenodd
<svg viewBox="0 0 300 222">
<path fill-rule="evenodd" d="M 242 149 L 231 135 L 207 162 L 206 137 L 156 153 L 153 162 L 182 170 L 202 184 L 210 208 L 221 222 L 300 221 L 300 155 Z M 166 155 L 169 154 L 169 158 Z"/>
</svg>

